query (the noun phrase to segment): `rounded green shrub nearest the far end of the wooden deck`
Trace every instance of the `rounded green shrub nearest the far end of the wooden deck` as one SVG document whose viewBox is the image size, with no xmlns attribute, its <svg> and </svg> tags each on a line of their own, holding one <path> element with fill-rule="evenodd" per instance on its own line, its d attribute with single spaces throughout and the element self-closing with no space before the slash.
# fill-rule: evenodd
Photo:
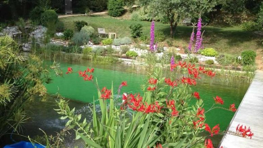
<svg viewBox="0 0 263 148">
<path fill-rule="evenodd" d="M 253 50 L 245 50 L 241 53 L 242 65 L 255 64 L 257 53 Z"/>
</svg>

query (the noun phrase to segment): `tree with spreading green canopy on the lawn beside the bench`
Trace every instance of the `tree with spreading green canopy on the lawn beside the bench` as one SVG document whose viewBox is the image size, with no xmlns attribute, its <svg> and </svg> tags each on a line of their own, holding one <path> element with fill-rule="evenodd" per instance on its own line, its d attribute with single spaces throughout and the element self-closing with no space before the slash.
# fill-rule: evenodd
<svg viewBox="0 0 263 148">
<path fill-rule="evenodd" d="M 162 15 L 170 24 L 174 35 L 180 18 L 196 18 L 212 11 L 216 0 L 139 0 L 142 6 L 151 5 L 152 15 Z"/>
</svg>

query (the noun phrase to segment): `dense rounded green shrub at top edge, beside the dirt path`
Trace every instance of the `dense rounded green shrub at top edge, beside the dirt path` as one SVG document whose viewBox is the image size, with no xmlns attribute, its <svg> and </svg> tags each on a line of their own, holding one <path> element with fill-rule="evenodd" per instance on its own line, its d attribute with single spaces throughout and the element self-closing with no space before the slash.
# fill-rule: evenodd
<svg viewBox="0 0 263 148">
<path fill-rule="evenodd" d="M 108 14 L 112 17 L 119 17 L 122 15 L 124 9 L 123 0 L 109 0 L 108 3 Z"/>
</svg>

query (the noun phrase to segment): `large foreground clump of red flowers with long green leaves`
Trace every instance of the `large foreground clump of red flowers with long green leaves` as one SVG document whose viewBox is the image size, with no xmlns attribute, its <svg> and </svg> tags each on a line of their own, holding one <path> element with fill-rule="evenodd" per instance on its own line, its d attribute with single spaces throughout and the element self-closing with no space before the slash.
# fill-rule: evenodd
<svg viewBox="0 0 263 148">
<path fill-rule="evenodd" d="M 142 86 L 143 96 L 138 93 L 124 93 L 121 99 L 115 97 L 113 84 L 111 89 L 99 87 L 93 76 L 96 75 L 96 69 L 87 68 L 76 72 L 69 67 L 66 72 L 68 75 L 78 73 L 83 81 L 95 84 L 101 116 L 98 118 L 96 113 L 95 100 L 91 108 L 92 123 L 87 123 L 87 119 L 81 114 L 75 114 L 75 109 L 70 109 L 63 98 L 57 101 L 58 109 L 55 110 L 62 115 L 60 119 L 68 119 L 66 127 L 76 130 L 76 139 L 82 138 L 88 146 L 96 148 L 150 148 L 156 145 L 190 148 L 199 147 L 203 142 L 206 148 L 213 147 L 212 140 L 207 137 L 222 132 L 219 124 L 211 128 L 205 123 L 205 114 L 215 108 L 234 112 L 235 105 L 223 108 L 223 99 L 216 96 L 215 103 L 205 111 L 202 94 L 200 96 L 199 92 L 192 93 L 191 85 L 197 84 L 196 80 L 201 79 L 201 74 L 213 78 L 216 73 L 186 62 L 172 62 L 170 66 L 172 70 L 182 72 L 181 75 L 163 78 L 161 68 L 155 69 L 148 82 Z M 123 86 L 127 86 L 127 82 L 120 84 L 118 94 Z M 189 105 L 188 102 L 193 98 L 196 98 L 196 103 Z M 130 112 L 133 113 L 132 116 L 128 116 Z M 174 131 L 177 134 L 173 134 Z M 209 136 L 200 137 L 203 131 L 207 131 Z"/>
</svg>

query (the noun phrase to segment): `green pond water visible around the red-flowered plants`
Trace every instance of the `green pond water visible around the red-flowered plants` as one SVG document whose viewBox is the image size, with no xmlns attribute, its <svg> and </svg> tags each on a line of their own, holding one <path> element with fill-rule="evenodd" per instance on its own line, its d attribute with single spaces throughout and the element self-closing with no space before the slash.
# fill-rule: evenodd
<svg viewBox="0 0 263 148">
<path fill-rule="evenodd" d="M 146 70 L 144 66 L 128 66 L 122 64 L 100 65 L 93 64 L 88 61 L 69 62 L 60 61 L 63 73 L 67 71 L 67 67 L 72 67 L 74 71 L 85 70 L 87 67 L 95 68 L 94 76 L 97 77 L 99 86 L 111 88 L 113 82 L 114 91 L 117 91 L 122 81 L 127 81 L 128 86 L 122 88 L 122 92 L 138 93 L 141 92 L 141 84 L 146 82 Z M 49 62 L 47 61 L 47 64 Z M 169 75 L 169 71 L 164 75 Z M 76 113 L 81 113 L 88 119 L 91 119 L 89 111 L 89 102 L 93 102 L 93 96 L 97 99 L 97 90 L 92 82 L 83 81 L 77 73 L 64 75 L 63 77 L 54 77 L 53 83 L 46 85 L 50 94 L 60 93 L 65 98 L 70 99 L 70 107 L 76 107 Z M 244 79 L 228 78 L 226 76 L 216 76 L 213 79 L 203 77 L 197 81 L 197 85 L 193 86 L 194 91 L 200 93 L 200 97 L 204 100 L 204 108 L 207 110 L 213 105 L 213 97 L 216 95 L 222 97 L 225 104 L 222 107 L 229 108 L 229 105 L 235 103 L 236 108 L 239 107 L 249 86 L 249 82 Z M 115 92 L 117 94 L 117 92 Z M 50 99 L 52 100 L 52 99 Z M 37 131 L 41 128 L 47 133 L 61 130 L 66 121 L 58 119 L 60 117 L 53 108 L 54 101 L 41 102 L 34 101 L 34 106 L 29 106 L 31 111 L 31 121 L 25 125 L 28 135 L 35 135 L 41 132 Z M 220 125 L 221 130 L 226 130 L 234 113 L 222 109 L 215 109 L 206 114 L 206 123 L 213 127 Z M 74 134 L 68 138 L 68 142 L 73 142 Z M 219 143 L 221 136 L 212 138 L 215 144 Z"/>
</svg>

